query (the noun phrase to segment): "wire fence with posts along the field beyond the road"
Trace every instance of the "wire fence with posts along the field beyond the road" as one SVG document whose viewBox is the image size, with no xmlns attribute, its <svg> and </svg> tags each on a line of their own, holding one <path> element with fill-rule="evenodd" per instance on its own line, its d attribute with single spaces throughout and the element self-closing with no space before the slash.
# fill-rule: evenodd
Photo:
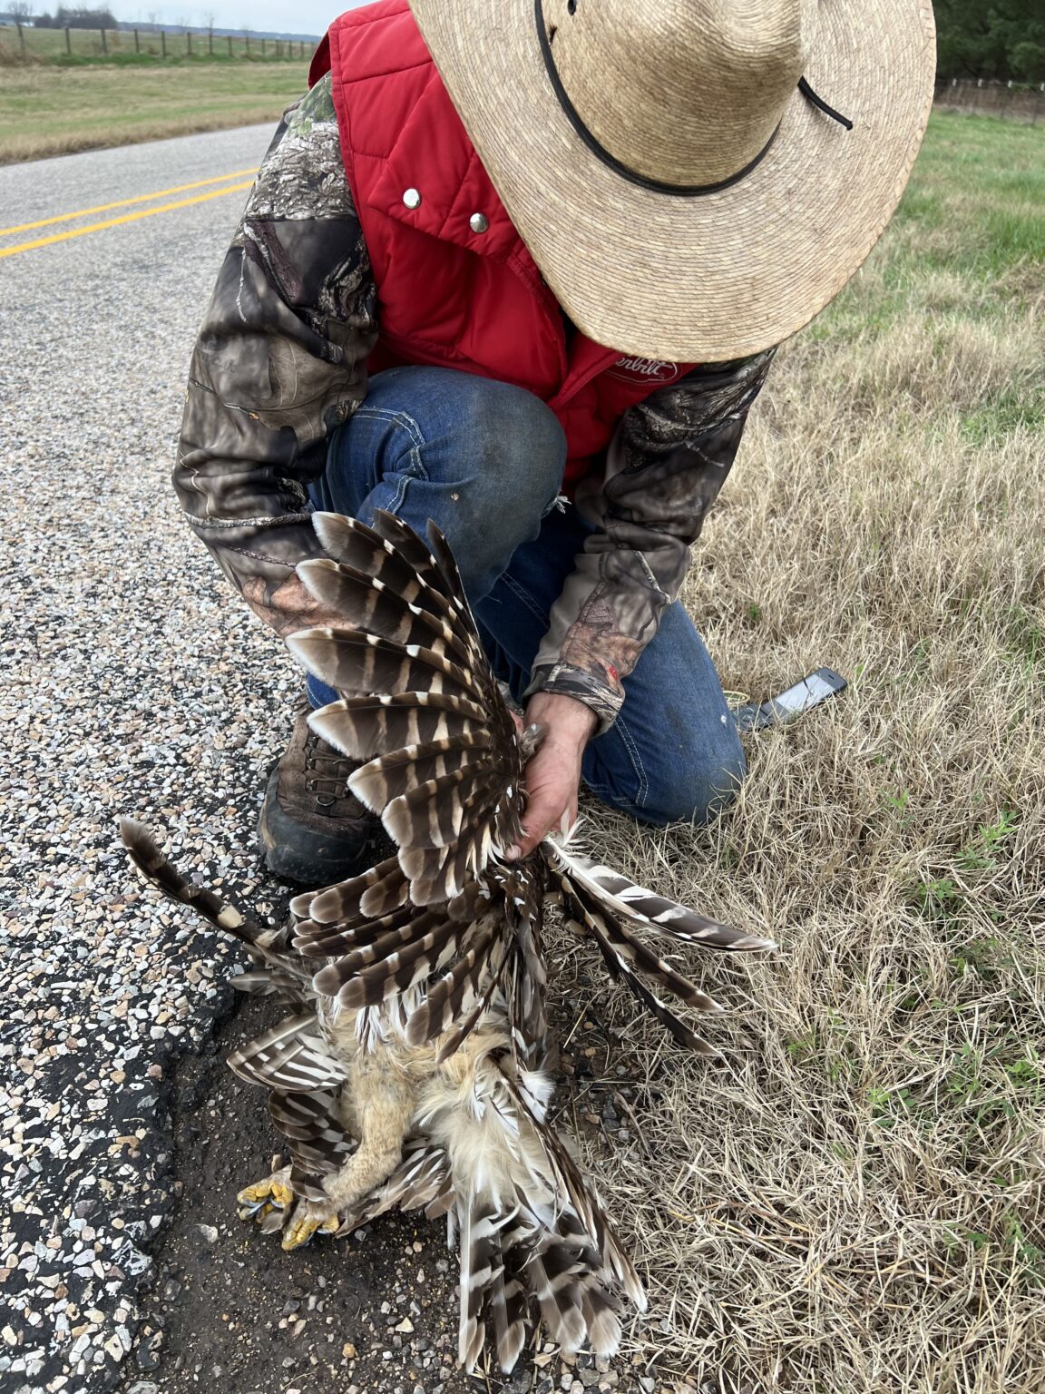
<svg viewBox="0 0 1045 1394">
<path fill-rule="evenodd" d="M 0 25 L 0 61 L 61 63 L 77 59 L 234 59 L 304 61 L 318 39 L 263 39 L 254 33 L 188 29 L 38 29 Z"/>
</svg>

